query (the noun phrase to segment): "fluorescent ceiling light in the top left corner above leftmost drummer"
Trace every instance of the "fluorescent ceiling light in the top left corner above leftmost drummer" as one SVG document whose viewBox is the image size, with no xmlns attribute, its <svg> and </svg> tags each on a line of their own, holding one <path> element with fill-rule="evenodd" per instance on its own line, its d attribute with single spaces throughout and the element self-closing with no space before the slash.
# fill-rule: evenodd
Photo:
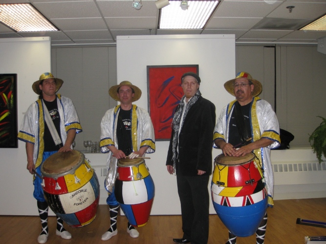
<svg viewBox="0 0 326 244">
<path fill-rule="evenodd" d="M 0 4 L 0 22 L 17 32 L 58 30 L 29 3 Z"/>
</svg>

